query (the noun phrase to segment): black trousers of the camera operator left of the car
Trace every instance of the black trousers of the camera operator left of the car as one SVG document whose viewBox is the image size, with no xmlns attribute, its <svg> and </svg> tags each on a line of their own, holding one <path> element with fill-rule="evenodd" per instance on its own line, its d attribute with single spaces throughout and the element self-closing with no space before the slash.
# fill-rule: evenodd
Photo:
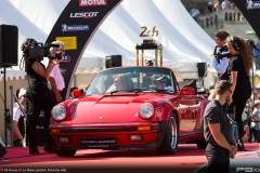
<svg viewBox="0 0 260 173">
<path fill-rule="evenodd" d="M 36 136 L 36 123 L 39 118 L 41 109 L 44 111 L 44 130 L 46 130 L 46 143 L 47 145 L 53 145 L 53 138 L 49 134 L 49 125 L 51 119 L 51 110 L 55 106 L 51 91 L 44 93 L 31 94 L 26 101 L 27 112 L 27 136 L 29 142 L 29 148 L 37 147 Z"/>
</svg>

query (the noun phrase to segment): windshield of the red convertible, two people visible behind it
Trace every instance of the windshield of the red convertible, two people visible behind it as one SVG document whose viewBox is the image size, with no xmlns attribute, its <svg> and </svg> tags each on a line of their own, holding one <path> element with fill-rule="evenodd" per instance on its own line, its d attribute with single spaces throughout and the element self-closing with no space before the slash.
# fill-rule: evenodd
<svg viewBox="0 0 260 173">
<path fill-rule="evenodd" d="M 150 92 L 174 94 L 170 69 L 159 67 L 113 68 L 99 72 L 86 95 L 117 92 Z"/>
</svg>

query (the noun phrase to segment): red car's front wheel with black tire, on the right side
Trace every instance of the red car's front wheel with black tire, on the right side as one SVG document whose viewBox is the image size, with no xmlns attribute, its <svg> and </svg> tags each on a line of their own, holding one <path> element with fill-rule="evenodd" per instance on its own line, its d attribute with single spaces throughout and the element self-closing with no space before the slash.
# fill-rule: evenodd
<svg viewBox="0 0 260 173">
<path fill-rule="evenodd" d="M 156 148 L 159 155 L 173 155 L 178 149 L 179 132 L 178 121 L 174 114 L 171 114 L 164 136 L 164 141 L 160 147 Z"/>
</svg>

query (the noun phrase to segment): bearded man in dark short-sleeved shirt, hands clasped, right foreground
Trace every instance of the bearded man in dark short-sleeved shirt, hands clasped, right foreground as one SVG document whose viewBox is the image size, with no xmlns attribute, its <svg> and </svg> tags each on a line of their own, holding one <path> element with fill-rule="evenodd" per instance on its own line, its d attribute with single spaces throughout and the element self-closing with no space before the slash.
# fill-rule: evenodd
<svg viewBox="0 0 260 173">
<path fill-rule="evenodd" d="M 210 173 L 229 172 L 230 158 L 236 155 L 236 142 L 231 133 L 230 119 L 225 103 L 231 95 L 231 86 L 226 80 L 216 83 L 216 98 L 206 107 L 204 114 L 204 137 L 206 139 L 207 170 Z"/>
</svg>

